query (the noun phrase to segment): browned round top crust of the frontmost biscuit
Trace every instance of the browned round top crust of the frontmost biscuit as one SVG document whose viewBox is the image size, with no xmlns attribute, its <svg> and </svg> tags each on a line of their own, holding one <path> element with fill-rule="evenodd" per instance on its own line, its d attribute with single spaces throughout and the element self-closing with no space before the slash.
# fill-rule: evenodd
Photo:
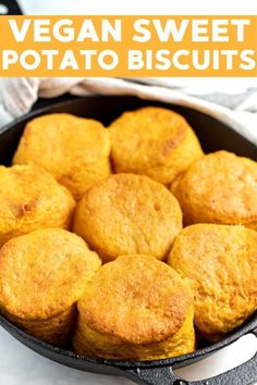
<svg viewBox="0 0 257 385">
<path fill-rule="evenodd" d="M 174 270 L 135 254 L 105 264 L 87 285 L 78 310 L 83 322 L 99 333 L 128 344 L 150 344 L 180 330 L 192 301 Z"/>
</svg>

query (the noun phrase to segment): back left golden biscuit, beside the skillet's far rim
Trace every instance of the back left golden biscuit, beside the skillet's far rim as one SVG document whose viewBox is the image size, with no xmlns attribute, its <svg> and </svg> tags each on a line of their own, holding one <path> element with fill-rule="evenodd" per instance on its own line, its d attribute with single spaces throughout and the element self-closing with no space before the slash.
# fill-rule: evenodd
<svg viewBox="0 0 257 385">
<path fill-rule="evenodd" d="M 51 114 L 26 125 L 13 163 L 41 166 L 79 199 L 111 173 L 110 150 L 109 133 L 100 122 Z"/>
</svg>

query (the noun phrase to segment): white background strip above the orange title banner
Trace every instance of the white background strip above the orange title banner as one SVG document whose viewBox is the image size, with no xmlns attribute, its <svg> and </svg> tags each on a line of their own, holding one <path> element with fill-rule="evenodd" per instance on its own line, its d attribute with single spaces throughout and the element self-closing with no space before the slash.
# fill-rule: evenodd
<svg viewBox="0 0 257 385">
<path fill-rule="evenodd" d="M 256 0 L 20 0 L 26 13 L 41 14 L 257 14 Z"/>
</svg>

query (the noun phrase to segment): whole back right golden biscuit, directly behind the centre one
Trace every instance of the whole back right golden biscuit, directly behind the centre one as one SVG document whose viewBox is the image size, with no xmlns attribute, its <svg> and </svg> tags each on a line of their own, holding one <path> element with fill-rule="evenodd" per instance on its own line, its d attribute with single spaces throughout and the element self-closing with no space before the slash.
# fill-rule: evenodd
<svg viewBox="0 0 257 385">
<path fill-rule="evenodd" d="M 170 110 L 147 107 L 125 112 L 109 129 L 118 173 L 148 175 L 169 185 L 203 157 L 191 126 Z"/>
</svg>

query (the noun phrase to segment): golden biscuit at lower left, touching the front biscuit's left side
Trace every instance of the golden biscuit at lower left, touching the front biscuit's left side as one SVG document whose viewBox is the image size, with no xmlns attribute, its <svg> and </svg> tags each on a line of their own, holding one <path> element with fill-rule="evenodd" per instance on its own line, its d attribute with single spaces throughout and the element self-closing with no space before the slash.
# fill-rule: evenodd
<svg viewBox="0 0 257 385">
<path fill-rule="evenodd" d="M 71 337 L 76 301 L 100 268 L 84 240 L 64 229 L 40 229 L 0 250 L 0 308 L 27 333 L 53 345 Z"/>
</svg>

